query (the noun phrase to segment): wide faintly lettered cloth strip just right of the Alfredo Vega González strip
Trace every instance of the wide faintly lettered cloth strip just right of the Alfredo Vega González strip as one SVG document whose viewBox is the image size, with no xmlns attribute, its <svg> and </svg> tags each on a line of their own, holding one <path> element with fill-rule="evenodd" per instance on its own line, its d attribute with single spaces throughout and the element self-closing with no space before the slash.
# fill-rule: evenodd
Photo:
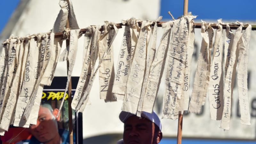
<svg viewBox="0 0 256 144">
<path fill-rule="evenodd" d="M 147 45 L 149 40 L 148 35 L 151 33 L 151 24 L 151 21 L 142 21 L 140 35 L 132 59 L 131 71 L 127 80 L 123 110 L 132 114 L 136 114 L 140 99 L 146 66 Z"/>
</svg>

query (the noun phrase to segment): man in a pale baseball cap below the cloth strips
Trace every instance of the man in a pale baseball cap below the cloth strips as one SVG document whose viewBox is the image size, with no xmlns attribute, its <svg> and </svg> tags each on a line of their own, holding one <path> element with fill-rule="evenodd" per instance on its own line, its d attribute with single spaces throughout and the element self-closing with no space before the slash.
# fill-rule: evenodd
<svg viewBox="0 0 256 144">
<path fill-rule="evenodd" d="M 161 122 L 155 112 L 142 112 L 138 117 L 122 111 L 119 119 L 124 123 L 124 134 L 118 144 L 158 144 L 163 137 Z"/>
</svg>

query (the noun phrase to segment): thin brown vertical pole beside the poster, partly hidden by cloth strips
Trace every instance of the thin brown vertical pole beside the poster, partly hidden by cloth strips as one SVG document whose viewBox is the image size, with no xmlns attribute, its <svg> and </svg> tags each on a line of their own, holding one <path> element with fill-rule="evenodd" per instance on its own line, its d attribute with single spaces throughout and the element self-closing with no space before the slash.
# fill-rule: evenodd
<svg viewBox="0 0 256 144">
<path fill-rule="evenodd" d="M 69 22 L 67 20 L 66 28 L 69 28 Z M 69 40 L 66 40 L 66 47 L 69 46 Z M 68 73 L 69 61 L 67 60 L 67 73 Z M 71 78 L 68 84 L 68 131 L 69 131 L 69 143 L 73 144 L 73 118 L 72 118 L 72 83 Z"/>
</svg>

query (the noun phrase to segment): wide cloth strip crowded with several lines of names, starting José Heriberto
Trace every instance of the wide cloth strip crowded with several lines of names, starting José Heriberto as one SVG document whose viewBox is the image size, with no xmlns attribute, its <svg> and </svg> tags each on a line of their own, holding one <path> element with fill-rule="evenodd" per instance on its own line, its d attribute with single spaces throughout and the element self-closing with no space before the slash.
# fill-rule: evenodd
<svg viewBox="0 0 256 144">
<path fill-rule="evenodd" d="M 185 17 L 173 21 L 172 39 L 168 50 L 168 63 L 164 85 L 163 118 L 176 119 L 177 101 L 184 85 L 184 61 L 188 44 L 188 21 Z M 180 109 L 180 108 L 177 108 Z"/>
</svg>

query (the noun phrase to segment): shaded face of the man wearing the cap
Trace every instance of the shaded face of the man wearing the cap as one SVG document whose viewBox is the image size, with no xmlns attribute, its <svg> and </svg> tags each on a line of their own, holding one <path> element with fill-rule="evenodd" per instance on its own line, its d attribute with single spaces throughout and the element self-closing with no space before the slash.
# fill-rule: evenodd
<svg viewBox="0 0 256 144">
<path fill-rule="evenodd" d="M 153 122 L 143 117 L 131 116 L 124 123 L 124 144 L 156 144 L 158 133 L 154 132 Z"/>
</svg>

